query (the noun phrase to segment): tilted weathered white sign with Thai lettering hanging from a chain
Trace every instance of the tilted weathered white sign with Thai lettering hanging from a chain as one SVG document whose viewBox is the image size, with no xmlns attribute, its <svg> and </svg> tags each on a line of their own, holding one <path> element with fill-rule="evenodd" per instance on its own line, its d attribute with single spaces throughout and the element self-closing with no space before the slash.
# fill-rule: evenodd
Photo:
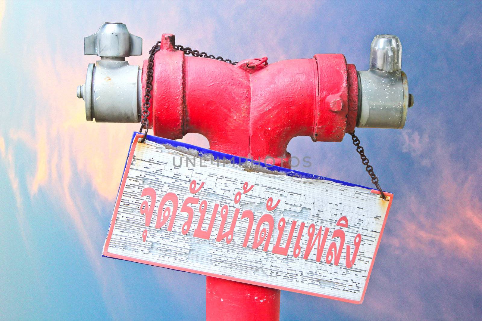
<svg viewBox="0 0 482 321">
<path fill-rule="evenodd" d="M 140 137 L 104 256 L 362 303 L 393 194 Z"/>
</svg>

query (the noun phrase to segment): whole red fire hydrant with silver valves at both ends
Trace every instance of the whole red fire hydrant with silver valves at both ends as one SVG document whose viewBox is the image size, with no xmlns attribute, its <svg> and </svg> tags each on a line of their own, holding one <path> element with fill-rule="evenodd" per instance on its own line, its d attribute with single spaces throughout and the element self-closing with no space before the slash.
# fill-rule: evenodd
<svg viewBox="0 0 482 321">
<path fill-rule="evenodd" d="M 142 69 L 125 57 L 142 54 L 142 39 L 121 23 L 105 23 L 84 39 L 89 64 L 77 89 L 87 120 L 139 122 L 147 61 Z M 154 58 L 149 126 L 154 134 L 180 139 L 200 133 L 210 148 L 251 159 L 274 159 L 289 167 L 289 141 L 342 141 L 355 127 L 403 128 L 413 104 L 402 72 L 402 45 L 378 35 L 370 68 L 358 71 L 342 54 L 316 54 L 268 64 L 267 58 L 236 65 L 186 56 L 174 35 L 163 34 Z M 208 320 L 278 320 L 280 291 L 206 279 Z"/>
</svg>

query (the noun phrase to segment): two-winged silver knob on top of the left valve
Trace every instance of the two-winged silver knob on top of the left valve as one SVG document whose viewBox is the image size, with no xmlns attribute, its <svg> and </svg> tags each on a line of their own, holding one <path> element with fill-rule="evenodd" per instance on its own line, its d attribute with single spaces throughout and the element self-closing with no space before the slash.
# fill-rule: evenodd
<svg viewBox="0 0 482 321">
<path fill-rule="evenodd" d="M 142 55 L 142 38 L 129 33 L 120 22 L 106 22 L 92 36 L 84 38 L 84 54 L 100 57 Z"/>
</svg>

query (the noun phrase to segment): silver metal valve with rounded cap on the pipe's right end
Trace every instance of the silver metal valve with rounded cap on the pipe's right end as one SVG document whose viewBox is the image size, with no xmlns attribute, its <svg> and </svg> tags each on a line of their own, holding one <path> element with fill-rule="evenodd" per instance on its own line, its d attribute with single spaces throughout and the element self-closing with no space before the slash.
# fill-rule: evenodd
<svg viewBox="0 0 482 321">
<path fill-rule="evenodd" d="M 377 35 L 370 50 L 370 69 L 358 72 L 357 127 L 403 128 L 413 105 L 402 71 L 402 44 L 394 35 Z"/>
</svg>

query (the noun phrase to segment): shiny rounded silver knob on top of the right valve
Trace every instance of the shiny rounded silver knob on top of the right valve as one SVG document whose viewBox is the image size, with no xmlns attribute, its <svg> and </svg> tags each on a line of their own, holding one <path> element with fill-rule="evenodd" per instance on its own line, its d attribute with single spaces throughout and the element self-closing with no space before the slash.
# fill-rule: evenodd
<svg viewBox="0 0 482 321">
<path fill-rule="evenodd" d="M 370 69 L 402 70 L 402 44 L 394 35 L 377 35 L 370 50 Z"/>
</svg>

